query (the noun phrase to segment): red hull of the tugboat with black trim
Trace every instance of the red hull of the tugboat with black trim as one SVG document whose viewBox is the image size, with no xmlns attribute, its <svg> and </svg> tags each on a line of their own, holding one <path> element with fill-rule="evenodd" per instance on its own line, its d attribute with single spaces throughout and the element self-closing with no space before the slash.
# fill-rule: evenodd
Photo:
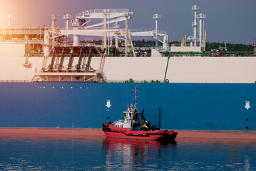
<svg viewBox="0 0 256 171">
<path fill-rule="evenodd" d="M 129 130 L 128 128 L 118 128 L 111 124 L 103 123 L 102 130 L 107 137 L 129 138 L 140 140 L 174 141 L 177 134 L 173 130 Z"/>
</svg>

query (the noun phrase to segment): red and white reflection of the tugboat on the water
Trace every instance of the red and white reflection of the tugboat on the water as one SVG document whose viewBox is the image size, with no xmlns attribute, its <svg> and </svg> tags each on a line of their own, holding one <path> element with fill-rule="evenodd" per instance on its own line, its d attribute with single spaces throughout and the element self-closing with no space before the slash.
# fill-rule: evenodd
<svg viewBox="0 0 256 171">
<path fill-rule="evenodd" d="M 175 142 L 159 142 L 153 140 L 133 140 L 122 138 L 106 138 L 103 147 L 106 148 L 107 170 L 140 170 L 145 167 L 158 167 L 161 147 L 168 146 L 169 150 L 175 148 Z M 150 155 L 152 155 L 150 157 Z M 160 166 L 160 165 L 159 165 Z"/>
</svg>

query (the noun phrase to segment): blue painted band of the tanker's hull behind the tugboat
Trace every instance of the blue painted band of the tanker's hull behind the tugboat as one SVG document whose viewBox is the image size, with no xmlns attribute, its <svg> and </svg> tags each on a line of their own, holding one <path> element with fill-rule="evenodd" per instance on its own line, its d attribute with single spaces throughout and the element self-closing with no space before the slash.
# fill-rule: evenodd
<svg viewBox="0 0 256 171">
<path fill-rule="evenodd" d="M 0 83 L 0 127 L 101 128 L 108 116 L 123 119 L 135 85 L 138 110 L 151 125 L 160 108 L 163 129 L 256 129 L 250 83 Z"/>
</svg>

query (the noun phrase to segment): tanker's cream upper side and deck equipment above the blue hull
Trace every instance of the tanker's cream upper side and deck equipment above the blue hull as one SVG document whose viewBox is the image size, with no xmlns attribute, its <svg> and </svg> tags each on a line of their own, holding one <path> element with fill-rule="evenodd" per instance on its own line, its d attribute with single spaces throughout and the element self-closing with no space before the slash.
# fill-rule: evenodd
<svg viewBox="0 0 256 171">
<path fill-rule="evenodd" d="M 154 30 L 129 29 L 128 21 L 133 12 L 128 9 L 86 10 L 74 16 L 64 14 L 64 28 L 55 26 L 56 15 L 51 16 L 51 26 L 2 28 L 0 49 L 3 58 L 0 59 L 12 66 L 1 68 L 0 80 L 254 83 L 256 71 L 252 63 L 255 63 L 255 58 L 251 57 L 256 54 L 204 52 L 206 16 L 197 14 L 199 6 L 193 6 L 192 10 L 195 12 L 194 35 L 185 35 L 180 45 L 170 47 L 166 31 L 158 28 L 160 14 L 153 15 Z M 13 18 L 10 16 L 8 19 L 11 21 Z M 101 44 L 88 41 L 88 36 L 100 37 Z M 133 47 L 133 36 L 151 36 L 163 46 Z M 225 58 L 227 56 L 230 58 Z M 133 66 L 133 69 L 129 69 L 129 66 Z"/>
</svg>

